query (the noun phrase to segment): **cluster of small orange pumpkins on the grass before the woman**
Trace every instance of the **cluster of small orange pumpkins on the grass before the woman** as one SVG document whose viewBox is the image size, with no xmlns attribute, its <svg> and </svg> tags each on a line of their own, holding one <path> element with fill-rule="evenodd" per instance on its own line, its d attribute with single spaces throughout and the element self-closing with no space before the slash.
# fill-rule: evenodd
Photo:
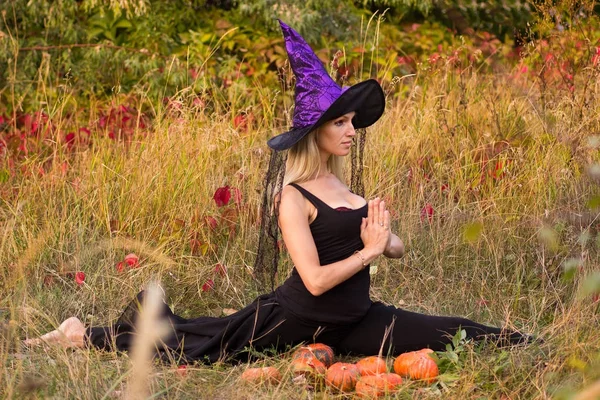
<svg viewBox="0 0 600 400">
<path fill-rule="evenodd" d="M 439 371 L 431 349 L 400 354 L 394 360 L 394 372 L 387 372 L 387 363 L 380 356 L 370 356 L 355 364 L 333 363 L 333 350 L 322 343 L 300 347 L 292 355 L 291 370 L 296 376 L 304 376 L 312 382 L 325 380 L 331 389 L 343 393 L 356 392 L 364 398 L 377 398 L 397 391 L 402 377 L 432 383 Z M 251 383 L 277 383 L 281 374 L 275 367 L 248 368 L 242 380 Z"/>
</svg>

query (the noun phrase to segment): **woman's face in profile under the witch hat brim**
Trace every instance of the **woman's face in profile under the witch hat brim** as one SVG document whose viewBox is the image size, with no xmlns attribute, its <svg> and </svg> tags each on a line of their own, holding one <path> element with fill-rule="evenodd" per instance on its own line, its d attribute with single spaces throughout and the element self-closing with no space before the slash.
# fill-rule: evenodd
<svg viewBox="0 0 600 400">
<path fill-rule="evenodd" d="M 350 153 L 352 140 L 356 135 L 352 125 L 354 114 L 352 111 L 321 125 L 317 132 L 317 146 L 321 153 L 336 156 L 346 156 Z"/>
</svg>

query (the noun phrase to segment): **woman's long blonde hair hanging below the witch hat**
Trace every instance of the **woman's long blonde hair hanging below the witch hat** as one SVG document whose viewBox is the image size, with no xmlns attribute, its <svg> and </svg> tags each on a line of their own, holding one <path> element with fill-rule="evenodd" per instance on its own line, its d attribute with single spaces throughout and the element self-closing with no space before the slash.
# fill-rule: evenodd
<svg viewBox="0 0 600 400">
<path fill-rule="evenodd" d="M 290 183 L 301 183 L 313 179 L 321 172 L 319 147 L 315 129 L 304 136 L 298 143 L 288 150 L 285 164 L 283 186 Z M 327 172 L 334 174 L 344 182 L 344 160 L 341 156 L 331 155 L 327 160 Z"/>
</svg>

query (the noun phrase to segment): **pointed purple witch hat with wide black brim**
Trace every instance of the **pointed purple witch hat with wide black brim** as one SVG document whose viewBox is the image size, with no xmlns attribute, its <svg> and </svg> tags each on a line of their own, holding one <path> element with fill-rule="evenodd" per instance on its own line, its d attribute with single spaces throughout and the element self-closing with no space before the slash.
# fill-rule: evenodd
<svg viewBox="0 0 600 400">
<path fill-rule="evenodd" d="M 385 109 L 385 97 L 374 79 L 350 87 L 340 87 L 327 73 L 321 60 L 298 32 L 279 20 L 290 66 L 296 76 L 292 128 L 269 139 L 274 150 L 286 150 L 313 129 L 351 111 L 355 128 L 375 123 Z"/>
</svg>

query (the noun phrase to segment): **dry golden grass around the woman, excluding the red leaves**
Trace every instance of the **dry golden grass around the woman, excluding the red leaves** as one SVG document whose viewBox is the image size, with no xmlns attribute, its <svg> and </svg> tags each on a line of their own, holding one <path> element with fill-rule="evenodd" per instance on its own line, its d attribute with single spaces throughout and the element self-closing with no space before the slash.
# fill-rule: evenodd
<svg viewBox="0 0 600 400">
<path fill-rule="evenodd" d="M 408 250 L 403 259 L 378 261 L 372 297 L 509 325 L 545 343 L 465 344 L 441 383 L 409 383 L 395 398 L 546 399 L 594 390 L 599 304 L 577 293 L 599 270 L 597 213 L 586 208 L 598 190 L 584 170 L 598 161 L 598 149 L 585 143 L 599 131 L 600 83 L 573 96 L 545 93 L 552 101 L 542 106 L 535 82 L 468 69 L 430 72 L 403 80 L 409 94 L 390 99 L 368 132 L 367 196 L 389 200 Z M 157 118 L 152 134 L 129 147 L 99 140 L 73 155 L 56 146 L 45 175 L 14 179 L 13 195 L 0 206 L 3 397 L 119 398 L 131 372 L 127 355 L 29 351 L 20 339 L 73 315 L 106 324 L 152 280 L 184 316 L 218 316 L 259 294 L 249 266 L 265 140 L 279 130 L 274 101 L 261 95 L 248 131 L 233 128 L 227 113 L 184 108 Z M 30 160 L 30 168 L 41 161 Z M 506 167 L 495 178 L 497 162 Z M 212 194 L 225 184 L 243 194 L 231 237 L 203 222 L 221 215 Z M 431 223 L 421 216 L 428 203 Z M 193 235 L 209 245 L 206 254 L 192 253 Z M 117 273 L 115 264 L 129 252 L 141 267 Z M 570 259 L 580 259 L 581 268 L 566 280 Z M 215 275 L 217 263 L 227 266 L 225 277 Z M 80 287 L 68 275 L 75 271 L 86 273 Z M 209 278 L 215 287 L 204 292 Z M 343 398 L 293 384 L 285 358 L 266 356 L 264 364 L 284 372 L 280 385 L 241 386 L 244 366 L 194 365 L 183 374 L 156 365 L 149 390 L 174 399 Z"/>
</svg>

